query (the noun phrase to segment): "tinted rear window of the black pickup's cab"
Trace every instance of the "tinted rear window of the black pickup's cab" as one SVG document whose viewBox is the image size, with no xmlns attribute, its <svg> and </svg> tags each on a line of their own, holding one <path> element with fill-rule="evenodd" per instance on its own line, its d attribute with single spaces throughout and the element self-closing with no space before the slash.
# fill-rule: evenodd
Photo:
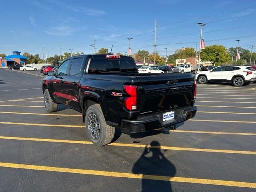
<svg viewBox="0 0 256 192">
<path fill-rule="evenodd" d="M 128 59 L 92 58 L 88 73 L 137 72 L 136 64 Z"/>
</svg>

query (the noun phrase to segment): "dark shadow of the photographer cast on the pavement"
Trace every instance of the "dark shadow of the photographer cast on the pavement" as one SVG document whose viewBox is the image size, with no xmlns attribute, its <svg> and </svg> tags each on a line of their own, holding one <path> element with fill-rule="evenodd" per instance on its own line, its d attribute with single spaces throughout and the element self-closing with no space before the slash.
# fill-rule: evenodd
<svg viewBox="0 0 256 192">
<path fill-rule="evenodd" d="M 154 176 L 173 177 L 176 174 L 176 168 L 161 152 L 160 143 L 152 141 L 134 164 L 132 173 L 142 174 L 142 192 L 171 192 L 170 181 L 154 180 Z"/>
</svg>

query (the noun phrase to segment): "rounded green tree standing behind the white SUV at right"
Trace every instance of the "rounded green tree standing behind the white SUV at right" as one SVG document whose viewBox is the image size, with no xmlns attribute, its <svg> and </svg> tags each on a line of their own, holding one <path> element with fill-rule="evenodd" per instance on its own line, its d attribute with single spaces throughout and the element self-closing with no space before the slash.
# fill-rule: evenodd
<svg viewBox="0 0 256 192">
<path fill-rule="evenodd" d="M 223 45 L 206 46 L 201 52 L 202 61 L 210 61 L 214 66 L 227 62 L 230 56 Z"/>
</svg>

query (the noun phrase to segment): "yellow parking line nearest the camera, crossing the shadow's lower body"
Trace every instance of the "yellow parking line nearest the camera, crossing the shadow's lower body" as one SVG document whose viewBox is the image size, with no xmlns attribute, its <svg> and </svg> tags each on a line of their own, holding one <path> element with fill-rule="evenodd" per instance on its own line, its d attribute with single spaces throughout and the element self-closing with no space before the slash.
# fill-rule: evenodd
<svg viewBox="0 0 256 192">
<path fill-rule="evenodd" d="M 228 180 L 213 180 L 213 179 L 200 179 L 200 178 L 188 178 L 188 177 L 169 177 L 169 176 L 133 174 L 133 173 L 101 171 L 101 170 L 86 170 L 86 169 L 62 168 L 62 167 L 52 167 L 52 166 L 15 164 L 15 163 L 5 163 L 5 162 L 0 162 L 0 167 L 39 170 L 39 171 L 51 171 L 51 172 L 63 172 L 63 173 L 73 173 L 73 174 L 86 174 L 86 175 L 107 176 L 107 177 L 116 177 L 116 178 L 148 179 L 148 180 L 160 180 L 160 181 L 169 181 L 169 182 L 184 182 L 184 183 L 210 184 L 210 185 L 232 186 L 232 187 L 256 188 L 256 183 L 228 181 Z"/>
</svg>

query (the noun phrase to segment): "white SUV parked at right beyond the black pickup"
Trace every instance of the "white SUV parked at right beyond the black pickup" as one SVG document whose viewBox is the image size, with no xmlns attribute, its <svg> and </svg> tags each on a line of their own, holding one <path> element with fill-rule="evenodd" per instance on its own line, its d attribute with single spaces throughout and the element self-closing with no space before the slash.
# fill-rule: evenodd
<svg viewBox="0 0 256 192">
<path fill-rule="evenodd" d="M 234 86 L 242 86 L 256 81 L 256 70 L 250 66 L 225 65 L 210 71 L 196 73 L 196 80 L 200 84 L 208 82 L 232 82 Z"/>
</svg>

